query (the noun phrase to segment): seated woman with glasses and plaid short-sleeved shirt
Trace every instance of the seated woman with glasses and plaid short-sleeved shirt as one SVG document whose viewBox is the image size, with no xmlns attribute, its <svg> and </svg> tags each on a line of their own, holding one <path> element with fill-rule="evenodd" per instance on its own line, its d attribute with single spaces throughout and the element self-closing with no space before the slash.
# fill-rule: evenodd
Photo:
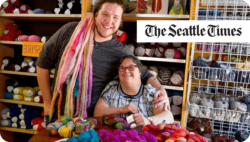
<svg viewBox="0 0 250 142">
<path fill-rule="evenodd" d="M 128 55 L 119 60 L 119 81 L 111 81 L 103 90 L 96 103 L 94 117 L 104 114 L 119 114 L 127 117 L 133 114 L 135 124 L 157 124 L 165 120 L 173 123 L 172 113 L 164 111 L 163 105 L 155 108 L 153 96 L 156 89 L 150 84 L 141 83 L 141 72 L 144 70 L 141 62 L 134 56 Z"/>
</svg>

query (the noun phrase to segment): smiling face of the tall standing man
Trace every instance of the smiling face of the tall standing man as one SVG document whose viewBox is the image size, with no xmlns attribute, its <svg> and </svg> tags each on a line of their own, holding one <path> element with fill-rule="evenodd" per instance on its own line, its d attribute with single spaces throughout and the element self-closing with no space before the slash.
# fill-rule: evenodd
<svg viewBox="0 0 250 142">
<path fill-rule="evenodd" d="M 95 40 L 99 42 L 112 39 L 120 24 L 123 9 L 118 4 L 104 3 L 95 15 Z"/>
</svg>

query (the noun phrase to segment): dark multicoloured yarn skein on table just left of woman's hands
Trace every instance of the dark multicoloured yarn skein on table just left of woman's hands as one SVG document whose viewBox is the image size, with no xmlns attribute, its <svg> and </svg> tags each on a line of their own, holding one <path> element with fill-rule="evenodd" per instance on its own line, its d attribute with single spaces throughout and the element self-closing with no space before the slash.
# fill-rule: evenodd
<svg viewBox="0 0 250 142">
<path fill-rule="evenodd" d="M 130 124 L 124 118 L 119 117 L 119 115 L 117 114 L 105 114 L 102 116 L 102 121 L 104 124 L 116 127 L 118 129 L 130 129 Z"/>
</svg>

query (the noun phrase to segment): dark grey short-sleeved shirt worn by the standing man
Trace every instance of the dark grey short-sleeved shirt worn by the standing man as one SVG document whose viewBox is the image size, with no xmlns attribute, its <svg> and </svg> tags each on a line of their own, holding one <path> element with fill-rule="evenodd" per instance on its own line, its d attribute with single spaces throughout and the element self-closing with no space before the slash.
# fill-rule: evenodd
<svg viewBox="0 0 250 142">
<path fill-rule="evenodd" d="M 52 69 L 55 67 L 55 78 L 57 76 L 61 56 L 77 24 L 78 22 L 65 24 L 44 44 L 43 49 L 39 54 L 36 65 L 43 69 Z M 118 71 L 116 63 L 118 59 L 130 54 L 132 53 L 129 51 L 128 47 L 125 44 L 118 42 L 115 36 L 113 36 L 111 40 L 105 42 L 94 42 L 94 51 L 92 54 L 93 85 L 91 105 L 88 107 L 88 116 L 93 116 L 94 107 L 100 94 L 105 86 L 117 75 Z M 147 70 L 144 70 L 141 76 L 142 82 L 146 84 L 148 78 L 153 75 Z M 52 90 L 54 89 L 54 84 L 55 79 L 52 83 Z M 65 98 L 66 94 L 64 93 L 61 107 L 62 113 L 64 112 Z M 55 104 L 55 110 L 57 112 L 57 103 Z"/>
</svg>

